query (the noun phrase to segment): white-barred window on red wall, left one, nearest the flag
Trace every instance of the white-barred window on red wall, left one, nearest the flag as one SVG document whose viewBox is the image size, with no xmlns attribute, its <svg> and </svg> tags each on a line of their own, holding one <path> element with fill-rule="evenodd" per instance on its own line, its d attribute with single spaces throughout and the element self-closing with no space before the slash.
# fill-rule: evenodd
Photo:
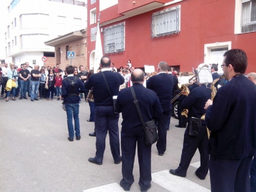
<svg viewBox="0 0 256 192">
<path fill-rule="evenodd" d="M 125 23 L 104 28 L 104 53 L 119 53 L 125 50 Z"/>
</svg>

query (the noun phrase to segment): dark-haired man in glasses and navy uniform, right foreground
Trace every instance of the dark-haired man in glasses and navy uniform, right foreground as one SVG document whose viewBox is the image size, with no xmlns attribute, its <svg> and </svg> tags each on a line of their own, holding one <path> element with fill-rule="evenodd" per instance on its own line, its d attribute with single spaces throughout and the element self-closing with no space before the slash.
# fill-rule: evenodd
<svg viewBox="0 0 256 192">
<path fill-rule="evenodd" d="M 247 55 L 231 49 L 224 54 L 229 82 L 205 104 L 210 129 L 211 192 L 250 192 L 249 170 L 256 152 L 256 86 L 243 73 Z"/>
</svg>

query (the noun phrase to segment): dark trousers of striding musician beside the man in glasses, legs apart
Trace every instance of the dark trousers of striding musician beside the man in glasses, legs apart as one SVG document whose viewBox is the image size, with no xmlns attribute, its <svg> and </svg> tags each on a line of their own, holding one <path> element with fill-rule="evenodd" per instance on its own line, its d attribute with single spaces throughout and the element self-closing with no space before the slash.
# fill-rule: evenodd
<svg viewBox="0 0 256 192">
<path fill-rule="evenodd" d="M 189 125 L 188 125 L 189 127 Z M 189 128 L 186 128 L 183 140 L 183 149 L 181 162 L 177 168 L 178 173 L 186 174 L 192 157 L 194 156 L 197 148 L 200 153 L 200 167 L 196 170 L 197 175 L 204 179 L 208 174 L 209 169 L 209 154 L 208 154 L 208 143 L 209 139 L 207 136 L 206 126 L 202 125 L 197 137 L 189 135 Z"/>
</svg>

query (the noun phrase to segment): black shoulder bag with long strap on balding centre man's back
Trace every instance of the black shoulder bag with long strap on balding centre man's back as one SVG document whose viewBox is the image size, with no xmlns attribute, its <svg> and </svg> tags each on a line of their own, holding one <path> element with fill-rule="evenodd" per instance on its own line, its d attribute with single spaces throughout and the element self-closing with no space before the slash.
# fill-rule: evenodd
<svg viewBox="0 0 256 192">
<path fill-rule="evenodd" d="M 131 92 L 132 92 L 134 103 L 138 111 L 139 119 L 144 129 L 146 145 L 152 145 L 158 140 L 158 134 L 155 126 L 155 119 L 152 119 L 151 121 L 147 121 L 146 123 L 144 122 L 133 86 L 131 86 Z"/>
</svg>

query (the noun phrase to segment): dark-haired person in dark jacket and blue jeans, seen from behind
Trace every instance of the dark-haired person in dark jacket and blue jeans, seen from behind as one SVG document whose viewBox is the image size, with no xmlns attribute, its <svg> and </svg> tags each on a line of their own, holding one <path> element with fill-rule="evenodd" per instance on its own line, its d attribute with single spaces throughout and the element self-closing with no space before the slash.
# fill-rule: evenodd
<svg viewBox="0 0 256 192">
<path fill-rule="evenodd" d="M 80 97 L 79 93 L 85 92 L 83 82 L 74 77 L 74 67 L 66 67 L 66 72 L 68 74 L 62 82 L 62 95 L 64 98 L 65 109 L 67 113 L 67 125 L 68 125 L 68 140 L 73 141 L 74 130 L 76 140 L 80 140 L 80 123 L 79 123 L 79 103 Z M 74 118 L 74 127 L 73 127 L 73 118 Z"/>
</svg>

